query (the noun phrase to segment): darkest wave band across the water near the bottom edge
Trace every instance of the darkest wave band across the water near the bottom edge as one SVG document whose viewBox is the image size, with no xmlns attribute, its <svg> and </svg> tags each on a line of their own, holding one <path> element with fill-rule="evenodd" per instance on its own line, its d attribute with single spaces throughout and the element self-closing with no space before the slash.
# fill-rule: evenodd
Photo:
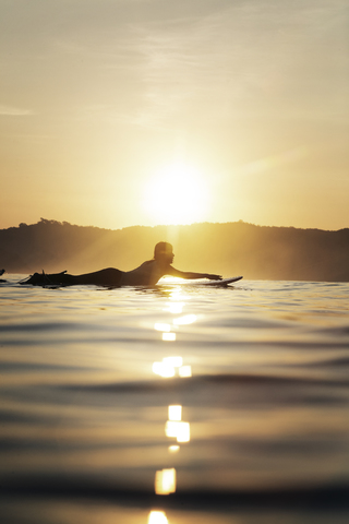
<svg viewBox="0 0 349 524">
<path fill-rule="evenodd" d="M 158 507 L 181 510 L 220 511 L 232 509 L 349 509 L 349 484 L 308 485 L 299 487 L 267 487 L 239 490 L 178 490 L 171 497 L 159 498 L 153 489 L 120 486 L 113 481 L 76 476 L 36 476 L 2 481 L 3 496 L 49 499 L 104 500 L 132 507 Z"/>
</svg>

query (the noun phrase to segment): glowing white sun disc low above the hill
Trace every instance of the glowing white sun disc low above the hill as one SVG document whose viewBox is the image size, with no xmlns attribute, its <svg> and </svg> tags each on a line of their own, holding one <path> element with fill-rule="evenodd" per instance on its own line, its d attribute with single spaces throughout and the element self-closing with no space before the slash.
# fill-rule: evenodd
<svg viewBox="0 0 349 524">
<path fill-rule="evenodd" d="M 145 211 L 157 224 L 192 224 L 208 216 L 208 188 L 193 166 L 173 163 L 147 182 Z"/>
</svg>

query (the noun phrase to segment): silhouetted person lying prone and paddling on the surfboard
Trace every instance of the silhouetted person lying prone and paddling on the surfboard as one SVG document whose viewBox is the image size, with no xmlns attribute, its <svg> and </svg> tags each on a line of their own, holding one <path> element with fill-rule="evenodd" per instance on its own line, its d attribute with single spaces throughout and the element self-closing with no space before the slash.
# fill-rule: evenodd
<svg viewBox="0 0 349 524">
<path fill-rule="evenodd" d="M 168 242 L 158 242 L 154 249 L 154 259 L 143 262 L 140 267 L 132 271 L 120 271 L 115 267 L 86 273 L 84 275 L 70 275 L 65 271 L 46 275 L 45 273 L 34 273 L 27 281 L 22 284 L 33 284 L 34 286 L 43 285 L 96 285 L 96 286 L 154 286 L 161 276 L 179 276 L 180 278 L 209 278 L 218 281 L 220 275 L 209 273 L 189 273 L 176 270 L 171 263 L 173 262 L 172 246 Z"/>
</svg>

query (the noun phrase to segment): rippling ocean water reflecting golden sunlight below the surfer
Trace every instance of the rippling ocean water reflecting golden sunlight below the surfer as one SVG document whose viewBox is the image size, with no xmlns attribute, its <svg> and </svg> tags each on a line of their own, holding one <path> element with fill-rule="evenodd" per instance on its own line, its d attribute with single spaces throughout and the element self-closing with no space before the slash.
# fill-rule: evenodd
<svg viewBox="0 0 349 524">
<path fill-rule="evenodd" d="M 349 522 L 348 283 L 23 276 L 0 285 L 2 524 Z"/>
</svg>

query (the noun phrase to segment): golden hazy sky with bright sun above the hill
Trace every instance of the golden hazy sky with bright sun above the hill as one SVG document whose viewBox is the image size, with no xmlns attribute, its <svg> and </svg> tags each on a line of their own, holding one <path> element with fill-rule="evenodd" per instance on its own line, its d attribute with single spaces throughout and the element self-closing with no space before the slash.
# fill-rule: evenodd
<svg viewBox="0 0 349 524">
<path fill-rule="evenodd" d="M 0 12 L 0 228 L 349 227 L 348 0 Z"/>
</svg>

